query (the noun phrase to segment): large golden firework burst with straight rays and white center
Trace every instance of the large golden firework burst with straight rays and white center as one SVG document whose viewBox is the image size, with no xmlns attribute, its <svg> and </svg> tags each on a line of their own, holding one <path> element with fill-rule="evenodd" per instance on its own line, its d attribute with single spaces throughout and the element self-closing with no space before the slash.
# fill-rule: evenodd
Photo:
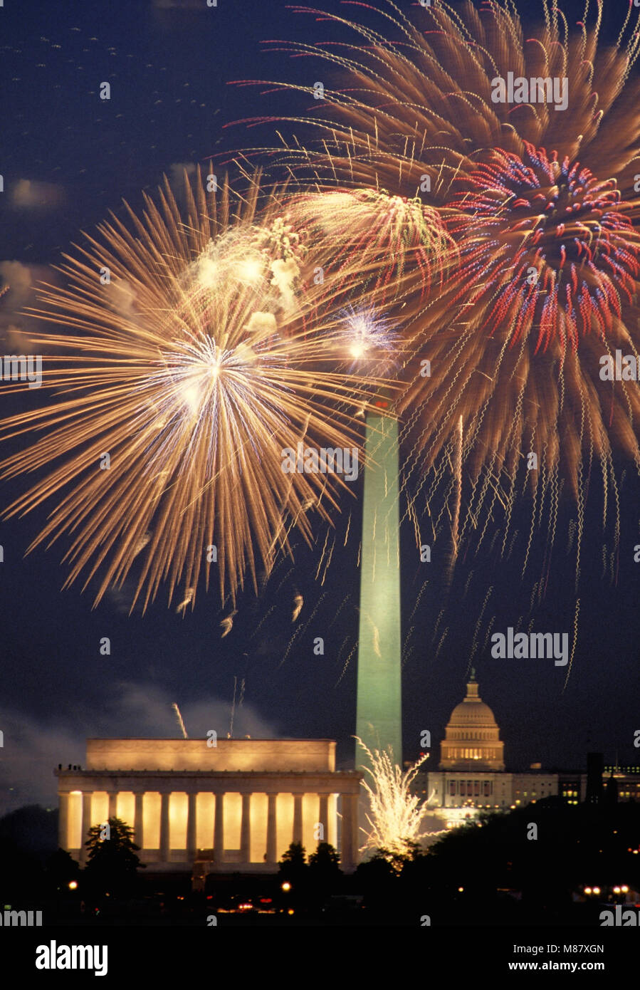
<svg viewBox="0 0 640 990">
<path fill-rule="evenodd" d="M 169 601 L 180 586 L 180 609 L 193 608 L 212 567 L 223 594 L 247 571 L 255 585 L 258 562 L 268 573 L 293 528 L 309 541 L 309 511 L 328 519 L 344 487 L 283 473 L 283 448 L 358 445 L 348 410 L 368 383 L 331 370 L 333 290 L 307 277 L 324 259 L 308 255 L 295 210 L 275 192 L 262 206 L 257 181 L 235 205 L 229 185 L 185 186 L 183 211 L 165 181 L 141 219 L 127 207 L 131 225 L 114 217 L 64 255 L 67 287 L 46 286 L 36 311 L 64 333 L 32 339 L 50 402 L 1 424 L 4 439 L 39 435 L 2 477 L 49 467 L 5 516 L 55 499 L 30 549 L 70 534 L 66 584 L 101 569 L 96 603 L 135 561 L 132 607 L 166 580 Z"/>
</svg>

